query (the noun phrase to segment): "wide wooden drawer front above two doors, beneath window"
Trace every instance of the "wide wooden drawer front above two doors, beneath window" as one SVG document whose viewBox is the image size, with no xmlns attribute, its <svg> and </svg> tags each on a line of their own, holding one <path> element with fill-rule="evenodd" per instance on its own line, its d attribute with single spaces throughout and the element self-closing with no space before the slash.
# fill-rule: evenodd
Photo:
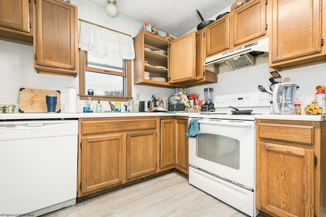
<svg viewBox="0 0 326 217">
<path fill-rule="evenodd" d="M 156 128 L 156 119 L 85 121 L 82 123 L 83 134 L 110 133 L 154 128 Z"/>
</svg>

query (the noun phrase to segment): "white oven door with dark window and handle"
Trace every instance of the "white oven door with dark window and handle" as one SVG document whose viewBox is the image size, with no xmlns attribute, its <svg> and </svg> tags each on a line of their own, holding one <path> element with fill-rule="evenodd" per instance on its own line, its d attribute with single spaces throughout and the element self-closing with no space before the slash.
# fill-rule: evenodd
<svg viewBox="0 0 326 217">
<path fill-rule="evenodd" d="M 255 121 L 198 119 L 189 138 L 189 165 L 254 190 Z"/>
</svg>

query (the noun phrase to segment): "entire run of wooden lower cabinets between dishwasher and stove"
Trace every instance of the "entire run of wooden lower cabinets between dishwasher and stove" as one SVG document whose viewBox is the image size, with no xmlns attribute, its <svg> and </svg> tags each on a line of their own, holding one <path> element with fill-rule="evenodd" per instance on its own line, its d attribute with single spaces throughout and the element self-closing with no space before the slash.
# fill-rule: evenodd
<svg viewBox="0 0 326 217">
<path fill-rule="evenodd" d="M 174 168 L 187 175 L 188 117 L 164 118 L 79 118 L 77 197 Z"/>
</svg>

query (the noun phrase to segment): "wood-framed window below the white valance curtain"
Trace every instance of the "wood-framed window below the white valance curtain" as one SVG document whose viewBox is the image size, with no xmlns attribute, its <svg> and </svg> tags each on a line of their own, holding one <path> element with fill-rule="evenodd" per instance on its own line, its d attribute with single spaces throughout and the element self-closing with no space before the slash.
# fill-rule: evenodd
<svg viewBox="0 0 326 217">
<path fill-rule="evenodd" d="M 88 95 L 88 89 L 94 95 Z M 131 96 L 131 61 L 79 50 L 79 98 L 125 101 Z"/>
</svg>

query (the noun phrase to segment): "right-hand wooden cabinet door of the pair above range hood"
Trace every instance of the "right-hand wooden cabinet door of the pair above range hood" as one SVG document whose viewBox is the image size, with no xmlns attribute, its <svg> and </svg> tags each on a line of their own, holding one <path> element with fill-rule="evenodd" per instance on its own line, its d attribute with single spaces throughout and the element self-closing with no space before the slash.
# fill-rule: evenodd
<svg viewBox="0 0 326 217">
<path fill-rule="evenodd" d="M 265 0 L 250 1 L 233 13 L 233 45 L 265 35 Z"/>
</svg>

